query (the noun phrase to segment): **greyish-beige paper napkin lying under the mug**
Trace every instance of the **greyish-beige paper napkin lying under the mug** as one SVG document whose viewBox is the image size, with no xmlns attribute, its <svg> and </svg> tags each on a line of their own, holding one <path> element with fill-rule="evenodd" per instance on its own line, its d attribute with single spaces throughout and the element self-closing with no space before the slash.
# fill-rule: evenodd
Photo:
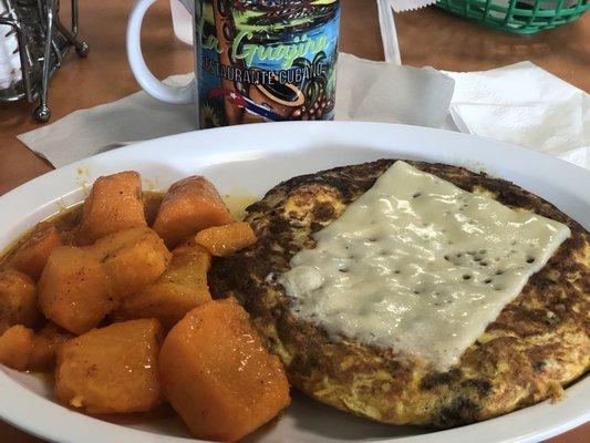
<svg viewBox="0 0 590 443">
<path fill-rule="evenodd" d="M 166 81 L 186 84 L 190 76 Z M 432 68 L 398 66 L 341 53 L 335 116 L 438 127 L 448 114 L 453 83 Z M 76 111 L 19 140 L 60 167 L 125 143 L 192 131 L 196 121 L 193 105 L 170 105 L 137 92 Z"/>
</svg>

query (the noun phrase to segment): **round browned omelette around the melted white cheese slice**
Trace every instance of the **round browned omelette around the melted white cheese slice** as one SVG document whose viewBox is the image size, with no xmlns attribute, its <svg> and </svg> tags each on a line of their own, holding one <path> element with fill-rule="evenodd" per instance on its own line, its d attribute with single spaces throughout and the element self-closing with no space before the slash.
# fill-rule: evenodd
<svg viewBox="0 0 590 443">
<path fill-rule="evenodd" d="M 214 297 L 234 297 L 245 306 L 291 384 L 379 422 L 451 427 L 559 398 L 590 364 L 590 235 L 550 203 L 486 174 L 408 162 L 460 189 L 560 222 L 571 235 L 456 364 L 441 370 L 393 348 L 334 338 L 296 315 L 276 276 L 289 271 L 300 250 L 313 249 L 314 233 L 337 220 L 393 163 L 338 167 L 269 190 L 247 208 L 258 243 L 214 264 Z"/>
</svg>

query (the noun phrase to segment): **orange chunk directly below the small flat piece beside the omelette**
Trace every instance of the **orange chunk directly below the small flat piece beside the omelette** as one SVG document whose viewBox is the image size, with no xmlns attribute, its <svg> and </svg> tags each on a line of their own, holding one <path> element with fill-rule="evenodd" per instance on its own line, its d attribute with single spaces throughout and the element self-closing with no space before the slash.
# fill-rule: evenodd
<svg viewBox="0 0 590 443">
<path fill-rule="evenodd" d="M 156 282 L 127 297 L 115 311 L 116 319 L 157 318 L 169 329 L 185 313 L 211 299 L 207 272 L 211 258 L 198 246 L 173 250 L 166 271 Z"/>
</svg>

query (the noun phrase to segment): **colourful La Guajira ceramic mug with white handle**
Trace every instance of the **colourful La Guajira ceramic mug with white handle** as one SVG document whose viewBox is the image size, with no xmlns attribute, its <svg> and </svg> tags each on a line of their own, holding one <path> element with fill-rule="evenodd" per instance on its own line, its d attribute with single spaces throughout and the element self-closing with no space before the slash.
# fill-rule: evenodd
<svg viewBox="0 0 590 443">
<path fill-rule="evenodd" d="M 332 120 L 339 0 L 180 0 L 194 17 L 195 80 L 175 87 L 147 69 L 138 0 L 127 28 L 131 69 L 157 100 L 198 107 L 199 128 Z"/>
</svg>

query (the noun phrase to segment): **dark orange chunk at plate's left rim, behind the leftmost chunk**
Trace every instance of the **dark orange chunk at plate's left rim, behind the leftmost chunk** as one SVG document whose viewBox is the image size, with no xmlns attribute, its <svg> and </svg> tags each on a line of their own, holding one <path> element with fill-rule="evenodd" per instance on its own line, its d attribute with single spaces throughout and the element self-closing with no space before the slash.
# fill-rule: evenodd
<svg viewBox="0 0 590 443">
<path fill-rule="evenodd" d="M 9 264 L 34 280 L 39 280 L 51 251 L 61 245 L 62 236 L 58 228 L 53 225 L 40 224 L 25 241 L 18 245 Z"/>
</svg>

